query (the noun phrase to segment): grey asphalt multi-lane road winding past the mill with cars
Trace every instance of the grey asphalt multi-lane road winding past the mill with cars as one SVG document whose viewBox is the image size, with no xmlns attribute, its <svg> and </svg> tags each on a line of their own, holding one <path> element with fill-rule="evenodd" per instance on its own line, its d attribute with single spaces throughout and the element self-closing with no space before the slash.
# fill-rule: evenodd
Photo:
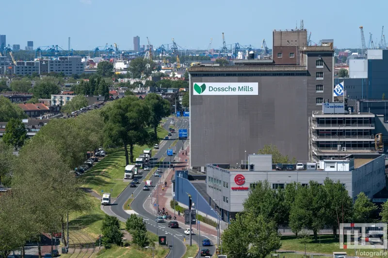
<svg viewBox="0 0 388 258">
<path fill-rule="evenodd" d="M 176 119 L 175 119 L 176 120 Z M 164 128 L 168 130 L 170 126 L 170 122 L 172 121 L 172 118 L 168 119 L 167 122 L 164 125 Z M 185 129 L 189 126 L 189 119 L 188 118 L 180 118 L 178 121 L 176 120 L 176 133 L 170 137 L 168 141 L 164 141 L 162 143 L 162 146 L 160 146 L 159 152 L 155 153 L 152 157 L 153 161 L 159 161 L 163 156 L 166 157 L 165 160 L 167 161 L 169 158 L 167 157 L 167 149 L 169 148 L 170 144 L 174 142 L 176 138 L 178 138 L 178 129 Z M 177 144 L 178 150 L 182 149 L 182 141 L 178 141 Z M 176 148 L 174 148 L 174 151 L 176 152 Z M 178 153 L 178 152 L 177 152 Z M 152 167 L 152 161 L 151 167 Z M 166 165 L 167 166 L 167 165 Z M 123 193 L 113 202 L 113 205 L 110 206 L 111 211 L 118 215 L 121 218 L 127 219 L 129 217 L 129 214 L 123 210 L 123 205 L 127 201 L 127 199 L 131 196 L 133 193 L 133 197 L 135 199 L 132 202 L 131 208 L 133 211 L 139 213 L 143 219 L 146 221 L 146 227 L 147 230 L 150 232 L 153 232 L 157 235 L 165 235 L 166 240 L 168 244 L 171 246 L 173 245 L 172 250 L 170 251 L 168 258 L 181 258 L 185 253 L 185 246 L 183 241 L 183 235 L 184 235 L 184 228 L 188 225 L 179 225 L 183 228 L 168 228 L 168 221 L 164 223 L 156 223 L 155 214 L 151 214 L 150 212 L 146 211 L 144 203 L 146 202 L 147 198 L 149 200 L 150 197 L 150 191 L 143 191 L 143 186 L 145 185 L 145 182 L 143 182 L 144 177 L 146 176 L 148 171 L 141 171 L 142 173 L 140 175 L 137 175 L 137 178 L 139 179 L 139 184 L 136 188 L 130 188 L 127 187 Z M 124 173 L 123 173 L 124 174 Z M 153 184 L 155 185 L 156 182 L 158 182 L 157 177 L 151 177 L 151 180 Z M 196 225 L 193 225 L 193 228 L 196 228 Z M 174 238 L 174 240 L 173 240 Z M 192 236 L 193 241 L 198 242 L 198 235 Z M 202 244 L 202 241 L 206 239 L 205 237 L 200 237 L 200 244 Z M 190 241 L 189 236 L 186 236 L 186 241 Z M 212 255 L 215 252 L 214 246 L 207 246 L 204 247 L 210 250 L 210 255 Z M 200 249 L 201 246 L 200 246 Z M 200 253 L 198 254 L 198 257 L 200 257 Z"/>
</svg>

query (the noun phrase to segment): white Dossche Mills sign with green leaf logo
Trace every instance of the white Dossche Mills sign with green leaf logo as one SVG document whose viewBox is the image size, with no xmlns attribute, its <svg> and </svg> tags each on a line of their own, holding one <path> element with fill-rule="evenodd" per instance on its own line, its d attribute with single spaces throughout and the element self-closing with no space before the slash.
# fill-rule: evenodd
<svg viewBox="0 0 388 258">
<path fill-rule="evenodd" d="M 193 95 L 259 95 L 258 82 L 194 83 Z"/>
</svg>

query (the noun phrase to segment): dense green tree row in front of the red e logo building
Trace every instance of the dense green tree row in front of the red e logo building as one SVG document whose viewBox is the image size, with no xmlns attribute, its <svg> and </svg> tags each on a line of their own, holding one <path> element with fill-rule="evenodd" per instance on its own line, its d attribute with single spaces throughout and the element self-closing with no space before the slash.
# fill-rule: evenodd
<svg viewBox="0 0 388 258">
<path fill-rule="evenodd" d="M 353 202 L 341 182 L 326 178 L 323 184 L 291 182 L 285 188 L 273 189 L 259 181 L 250 189 L 243 211 L 231 220 L 222 240 L 228 257 L 266 257 L 281 246 L 278 227 L 290 227 L 296 236 L 314 240 L 324 227 L 337 236 L 339 223 L 372 223 L 388 221 L 388 202 L 378 214 L 378 207 L 363 192 Z"/>
</svg>

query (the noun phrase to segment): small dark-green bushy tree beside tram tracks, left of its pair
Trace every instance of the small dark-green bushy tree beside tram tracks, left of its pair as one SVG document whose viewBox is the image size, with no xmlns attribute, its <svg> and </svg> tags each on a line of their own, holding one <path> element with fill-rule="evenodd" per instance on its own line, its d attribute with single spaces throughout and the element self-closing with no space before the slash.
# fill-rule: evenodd
<svg viewBox="0 0 388 258">
<path fill-rule="evenodd" d="M 103 235 L 101 242 L 105 248 L 111 248 L 112 244 L 121 245 L 124 234 L 120 231 L 120 221 L 118 218 L 105 214 L 101 231 Z"/>
</svg>

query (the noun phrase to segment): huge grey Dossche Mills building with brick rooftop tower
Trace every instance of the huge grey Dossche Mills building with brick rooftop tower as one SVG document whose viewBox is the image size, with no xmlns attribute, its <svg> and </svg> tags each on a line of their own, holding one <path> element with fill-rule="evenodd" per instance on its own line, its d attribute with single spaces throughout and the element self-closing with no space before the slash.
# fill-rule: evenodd
<svg viewBox="0 0 388 258">
<path fill-rule="evenodd" d="M 273 34 L 273 59 L 189 69 L 191 167 L 245 163 L 265 144 L 309 161 L 309 117 L 334 98 L 333 40 L 307 46 L 307 30 Z"/>
</svg>

